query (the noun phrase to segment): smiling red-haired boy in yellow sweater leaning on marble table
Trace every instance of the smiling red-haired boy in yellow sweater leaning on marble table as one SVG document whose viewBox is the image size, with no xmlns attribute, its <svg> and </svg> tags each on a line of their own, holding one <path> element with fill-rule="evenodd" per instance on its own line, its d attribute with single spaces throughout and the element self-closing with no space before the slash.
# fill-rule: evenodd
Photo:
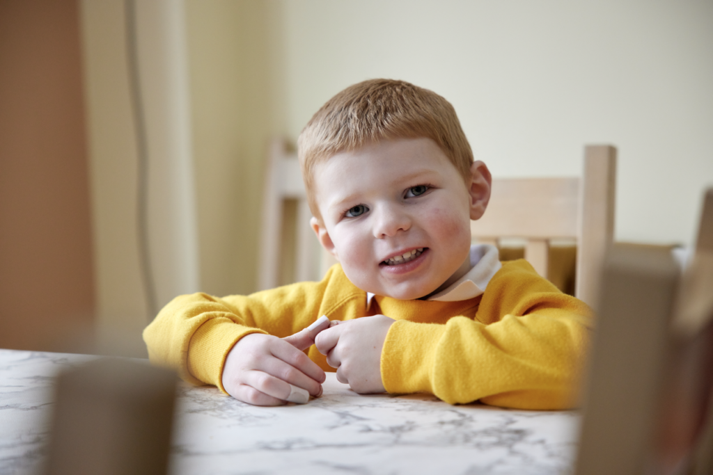
<svg viewBox="0 0 713 475">
<path fill-rule="evenodd" d="M 527 262 L 471 247 L 491 175 L 448 101 L 364 81 L 317 111 L 298 150 L 312 228 L 339 264 L 321 282 L 175 298 L 144 332 L 153 362 L 259 405 L 321 395 L 332 368 L 359 393 L 575 403 L 590 310 Z"/>
</svg>

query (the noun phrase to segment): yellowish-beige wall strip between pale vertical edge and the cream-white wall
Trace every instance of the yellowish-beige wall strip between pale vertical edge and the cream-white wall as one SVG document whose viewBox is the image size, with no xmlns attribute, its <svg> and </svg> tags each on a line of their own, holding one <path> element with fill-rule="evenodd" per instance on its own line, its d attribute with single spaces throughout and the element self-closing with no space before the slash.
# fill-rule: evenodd
<svg viewBox="0 0 713 475">
<path fill-rule="evenodd" d="M 257 290 L 267 142 L 279 129 L 279 10 L 189 0 L 188 56 L 202 289 Z"/>
</svg>

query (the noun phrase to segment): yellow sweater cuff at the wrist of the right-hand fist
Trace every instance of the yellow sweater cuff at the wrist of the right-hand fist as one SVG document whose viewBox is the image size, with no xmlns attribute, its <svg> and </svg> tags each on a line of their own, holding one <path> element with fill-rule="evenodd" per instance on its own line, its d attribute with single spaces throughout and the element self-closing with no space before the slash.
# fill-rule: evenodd
<svg viewBox="0 0 713 475">
<path fill-rule="evenodd" d="M 381 383 L 397 394 L 434 394 L 431 369 L 436 362 L 436 346 L 446 325 L 399 320 L 389 328 L 381 350 Z"/>
</svg>

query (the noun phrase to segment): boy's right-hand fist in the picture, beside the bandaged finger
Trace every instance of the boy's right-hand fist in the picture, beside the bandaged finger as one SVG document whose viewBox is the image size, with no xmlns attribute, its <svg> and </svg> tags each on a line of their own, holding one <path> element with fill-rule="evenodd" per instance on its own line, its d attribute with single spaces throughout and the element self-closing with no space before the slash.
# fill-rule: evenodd
<svg viewBox="0 0 713 475">
<path fill-rule="evenodd" d="M 385 315 L 332 322 L 315 338 L 317 350 L 337 368 L 337 380 L 359 394 L 385 392 L 381 383 L 381 349 L 396 320 Z"/>
</svg>

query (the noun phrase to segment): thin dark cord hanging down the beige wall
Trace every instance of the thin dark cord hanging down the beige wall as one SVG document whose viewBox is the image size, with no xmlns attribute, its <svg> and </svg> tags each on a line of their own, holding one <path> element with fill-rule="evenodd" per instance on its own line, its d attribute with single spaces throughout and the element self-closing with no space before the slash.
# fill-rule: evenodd
<svg viewBox="0 0 713 475">
<path fill-rule="evenodd" d="M 146 298 L 148 319 L 153 320 L 156 308 L 155 283 L 150 260 L 148 236 L 148 142 L 146 124 L 141 100 L 138 68 L 138 41 L 136 38 L 136 0 L 125 0 L 126 61 L 128 66 L 129 96 L 133 124 L 136 135 L 136 155 L 138 158 L 136 187 L 136 230 L 138 239 L 139 266 Z"/>
</svg>

